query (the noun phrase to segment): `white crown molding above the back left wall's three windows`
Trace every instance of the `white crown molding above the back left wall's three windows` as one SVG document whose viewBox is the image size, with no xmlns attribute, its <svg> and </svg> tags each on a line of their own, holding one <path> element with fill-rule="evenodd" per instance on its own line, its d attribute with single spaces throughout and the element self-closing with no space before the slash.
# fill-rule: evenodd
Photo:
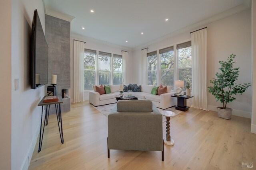
<svg viewBox="0 0 256 170">
<path fill-rule="evenodd" d="M 71 37 L 72 37 L 72 39 L 71 39 L 72 41 L 73 41 L 73 38 L 75 38 L 75 39 L 78 39 L 78 40 L 81 40 L 81 41 L 86 41 L 86 43 L 88 41 L 94 42 L 94 43 L 100 43 L 100 44 L 104 44 L 104 45 L 109 45 L 109 46 L 112 46 L 112 47 L 120 48 L 122 50 L 126 50 L 126 51 L 129 51 L 129 52 L 131 52 L 133 50 L 132 48 L 129 48 L 129 47 L 124 47 L 122 45 L 110 43 L 108 41 L 102 41 L 100 39 L 95 39 L 95 38 L 92 38 L 92 37 L 87 37 L 87 36 L 80 35 L 80 34 L 77 34 L 77 33 L 74 33 L 74 32 L 71 32 Z"/>
</svg>

